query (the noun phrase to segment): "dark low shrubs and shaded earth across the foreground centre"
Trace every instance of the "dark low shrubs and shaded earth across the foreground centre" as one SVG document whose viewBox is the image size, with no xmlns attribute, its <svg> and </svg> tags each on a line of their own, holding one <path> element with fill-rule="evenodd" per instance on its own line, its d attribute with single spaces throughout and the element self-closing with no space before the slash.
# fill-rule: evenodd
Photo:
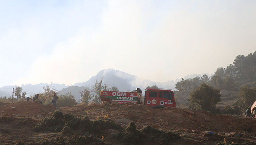
<svg viewBox="0 0 256 145">
<path fill-rule="evenodd" d="M 44 118 L 34 127 L 36 132 L 61 132 L 60 144 L 108 144 L 103 138 L 115 138 L 121 143 L 145 144 L 167 143 L 181 138 L 172 132 L 159 131 L 149 125 L 137 130 L 134 122 L 124 129 L 121 125 L 109 120 L 90 120 L 88 117 L 76 118 L 57 110 L 49 118 Z M 114 133 L 116 132 L 116 133 Z M 72 136 L 68 138 L 66 136 Z M 54 143 L 54 142 L 52 142 Z M 120 144 L 120 143 L 119 143 Z"/>
</svg>

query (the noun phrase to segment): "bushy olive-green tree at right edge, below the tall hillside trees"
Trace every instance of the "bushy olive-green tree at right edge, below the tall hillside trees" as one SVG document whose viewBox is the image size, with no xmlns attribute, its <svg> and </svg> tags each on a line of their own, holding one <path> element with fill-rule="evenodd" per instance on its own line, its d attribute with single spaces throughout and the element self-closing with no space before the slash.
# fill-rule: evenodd
<svg viewBox="0 0 256 145">
<path fill-rule="evenodd" d="M 233 104 L 233 106 L 237 106 L 241 112 L 244 112 L 248 107 L 253 105 L 256 100 L 256 89 L 254 87 L 244 85 L 240 87 L 238 96 L 239 99 Z"/>
</svg>

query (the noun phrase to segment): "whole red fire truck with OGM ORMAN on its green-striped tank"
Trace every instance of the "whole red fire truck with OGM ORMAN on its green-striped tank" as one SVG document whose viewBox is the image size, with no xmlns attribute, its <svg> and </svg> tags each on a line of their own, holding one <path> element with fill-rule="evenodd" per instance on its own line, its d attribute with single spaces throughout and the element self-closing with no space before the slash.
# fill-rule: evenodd
<svg viewBox="0 0 256 145">
<path fill-rule="evenodd" d="M 101 91 L 100 98 L 102 102 L 108 103 L 117 101 L 119 104 L 130 102 L 148 105 L 152 108 L 176 107 L 174 93 L 171 89 L 147 89 L 144 99 L 139 88 L 135 92 Z"/>
</svg>

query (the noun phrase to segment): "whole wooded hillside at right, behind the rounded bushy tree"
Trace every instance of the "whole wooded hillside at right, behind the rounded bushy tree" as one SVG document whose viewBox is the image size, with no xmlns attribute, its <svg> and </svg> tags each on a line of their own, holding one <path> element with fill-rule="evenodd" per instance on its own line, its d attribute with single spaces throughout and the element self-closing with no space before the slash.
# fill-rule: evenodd
<svg viewBox="0 0 256 145">
<path fill-rule="evenodd" d="M 190 102 L 187 105 L 191 107 L 191 100 L 193 100 L 191 97 L 202 84 L 208 85 L 212 87 L 212 89 L 222 90 L 222 92 L 228 91 L 232 94 L 237 93 L 238 95 L 235 96 L 237 101 L 225 106 L 220 112 L 223 114 L 242 113 L 246 108 L 252 105 L 256 99 L 256 51 L 247 56 L 236 56 L 233 64 L 228 65 L 226 68 L 218 67 L 213 76 L 204 74 L 201 78 L 194 77 L 185 80 L 182 78 L 181 81 L 176 83 L 176 93 L 182 94 L 183 92 L 184 94 L 184 92 L 188 92 L 188 101 Z M 200 102 L 200 100 L 197 101 Z"/>
</svg>

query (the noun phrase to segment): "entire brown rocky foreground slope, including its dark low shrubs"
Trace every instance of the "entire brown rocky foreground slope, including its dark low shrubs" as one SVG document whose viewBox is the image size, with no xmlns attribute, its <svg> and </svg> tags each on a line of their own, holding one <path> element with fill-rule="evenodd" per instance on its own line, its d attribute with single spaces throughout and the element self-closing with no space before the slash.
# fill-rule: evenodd
<svg viewBox="0 0 256 145">
<path fill-rule="evenodd" d="M 55 108 L 22 101 L 0 104 L 0 116 L 3 145 L 256 144 L 253 118 L 181 108 L 106 103 Z"/>
</svg>

